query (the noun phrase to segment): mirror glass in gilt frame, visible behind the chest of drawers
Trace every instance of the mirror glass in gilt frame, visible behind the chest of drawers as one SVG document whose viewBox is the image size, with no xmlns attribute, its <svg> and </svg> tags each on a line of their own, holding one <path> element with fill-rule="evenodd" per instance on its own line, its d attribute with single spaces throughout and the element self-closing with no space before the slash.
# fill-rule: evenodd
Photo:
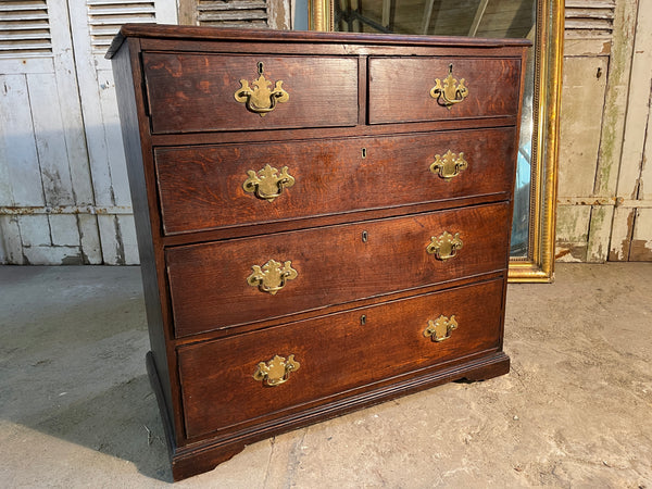
<svg viewBox="0 0 652 489">
<path fill-rule="evenodd" d="M 335 30 L 353 33 L 428 34 L 437 36 L 536 38 L 536 0 L 335 0 Z M 512 258 L 526 258 L 530 242 L 532 177 L 532 106 L 535 49 L 528 53 L 523 101 Z"/>
</svg>

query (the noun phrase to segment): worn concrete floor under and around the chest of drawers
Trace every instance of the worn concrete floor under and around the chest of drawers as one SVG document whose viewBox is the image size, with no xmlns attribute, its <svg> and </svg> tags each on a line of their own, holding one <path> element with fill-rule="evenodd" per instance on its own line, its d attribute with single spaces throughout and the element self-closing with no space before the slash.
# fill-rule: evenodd
<svg viewBox="0 0 652 489">
<path fill-rule="evenodd" d="M 0 267 L 0 487 L 163 487 L 137 267 Z M 652 264 L 509 289 L 509 375 L 248 447 L 179 488 L 652 488 Z"/>
</svg>

